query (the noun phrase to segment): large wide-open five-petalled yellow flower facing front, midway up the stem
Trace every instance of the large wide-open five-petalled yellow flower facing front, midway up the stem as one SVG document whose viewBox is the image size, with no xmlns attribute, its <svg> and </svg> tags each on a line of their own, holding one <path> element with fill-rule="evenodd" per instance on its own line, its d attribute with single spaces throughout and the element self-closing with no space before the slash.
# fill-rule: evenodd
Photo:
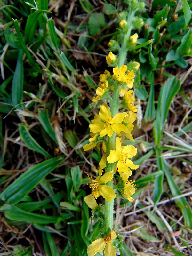
<svg viewBox="0 0 192 256">
<path fill-rule="evenodd" d="M 90 124 L 91 132 L 100 132 L 100 137 L 108 135 L 112 136 L 113 132 L 120 133 L 121 131 L 128 132 L 127 128 L 124 124 L 121 124 L 127 113 L 118 113 L 114 117 L 111 117 L 111 112 L 108 108 L 101 105 L 99 116 L 103 120 L 103 122 L 96 122 L 94 124 Z"/>
</svg>

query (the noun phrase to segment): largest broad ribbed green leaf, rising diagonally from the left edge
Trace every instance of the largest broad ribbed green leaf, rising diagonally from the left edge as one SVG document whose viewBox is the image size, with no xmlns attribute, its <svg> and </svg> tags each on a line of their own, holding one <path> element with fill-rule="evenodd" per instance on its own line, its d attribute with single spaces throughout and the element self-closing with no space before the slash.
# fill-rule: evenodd
<svg viewBox="0 0 192 256">
<path fill-rule="evenodd" d="M 16 204 L 20 202 L 35 186 L 44 179 L 47 174 L 52 172 L 64 158 L 55 157 L 36 164 L 19 176 L 0 194 L 0 199 Z"/>
</svg>

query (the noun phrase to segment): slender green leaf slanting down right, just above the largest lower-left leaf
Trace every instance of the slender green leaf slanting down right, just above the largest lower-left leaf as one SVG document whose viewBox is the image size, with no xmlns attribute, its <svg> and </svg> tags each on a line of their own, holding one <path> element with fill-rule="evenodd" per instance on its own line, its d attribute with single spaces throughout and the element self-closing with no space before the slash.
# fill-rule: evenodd
<svg viewBox="0 0 192 256">
<path fill-rule="evenodd" d="M 47 158 L 52 158 L 52 156 L 49 153 L 47 153 L 47 151 L 44 148 L 42 148 L 31 136 L 27 127 L 24 124 L 19 124 L 19 132 L 21 139 L 25 142 L 26 146 L 29 149 L 35 150 L 36 152 L 39 152 L 40 154 Z"/>
</svg>

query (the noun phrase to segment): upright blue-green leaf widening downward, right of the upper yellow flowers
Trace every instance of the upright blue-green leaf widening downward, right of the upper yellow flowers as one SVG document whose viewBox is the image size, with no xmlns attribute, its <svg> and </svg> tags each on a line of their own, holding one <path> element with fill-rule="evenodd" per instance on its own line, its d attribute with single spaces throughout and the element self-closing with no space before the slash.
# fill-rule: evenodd
<svg viewBox="0 0 192 256">
<path fill-rule="evenodd" d="M 155 90 L 154 90 L 154 72 L 151 72 L 151 84 L 149 91 L 148 104 L 145 111 L 146 122 L 151 121 L 155 118 Z"/>
</svg>

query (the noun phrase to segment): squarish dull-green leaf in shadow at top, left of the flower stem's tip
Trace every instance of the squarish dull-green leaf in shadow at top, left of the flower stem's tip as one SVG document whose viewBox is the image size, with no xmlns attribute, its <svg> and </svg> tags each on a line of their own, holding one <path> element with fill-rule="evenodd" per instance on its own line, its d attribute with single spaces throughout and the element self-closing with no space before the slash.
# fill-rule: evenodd
<svg viewBox="0 0 192 256">
<path fill-rule="evenodd" d="M 102 12 L 100 13 L 91 13 L 88 21 L 89 33 L 91 36 L 94 36 L 100 32 L 101 28 L 106 26 L 105 17 Z"/>
</svg>

